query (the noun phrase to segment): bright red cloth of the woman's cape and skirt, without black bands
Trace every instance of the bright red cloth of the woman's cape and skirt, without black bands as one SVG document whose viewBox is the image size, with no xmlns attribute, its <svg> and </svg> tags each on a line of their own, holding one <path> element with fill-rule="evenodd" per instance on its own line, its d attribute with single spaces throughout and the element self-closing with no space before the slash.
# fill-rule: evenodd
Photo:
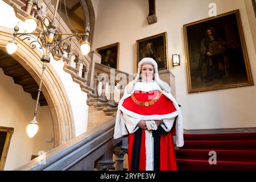
<svg viewBox="0 0 256 182">
<path fill-rule="evenodd" d="M 151 92 L 137 91 L 134 93 L 134 97 L 141 102 L 150 101 L 158 95 L 158 90 L 152 90 Z M 126 98 L 122 104 L 125 109 L 133 111 L 134 113 L 141 115 L 153 115 L 153 114 L 170 114 L 176 111 L 175 106 L 172 101 L 169 100 L 164 94 L 162 94 L 155 104 L 150 106 L 140 106 L 135 104 L 131 97 Z M 160 126 L 159 126 L 160 127 Z M 172 130 L 166 135 L 162 135 L 160 138 L 160 170 L 161 171 L 176 171 L 176 159 L 174 150 L 174 140 L 172 137 Z M 133 141 L 134 134 L 129 134 L 128 139 L 128 162 L 129 169 L 131 169 L 132 151 L 133 151 Z M 135 150 L 140 150 L 139 158 L 139 171 L 146 170 L 146 146 L 145 146 L 145 132 L 142 131 L 141 137 L 141 148 L 136 148 Z"/>
</svg>

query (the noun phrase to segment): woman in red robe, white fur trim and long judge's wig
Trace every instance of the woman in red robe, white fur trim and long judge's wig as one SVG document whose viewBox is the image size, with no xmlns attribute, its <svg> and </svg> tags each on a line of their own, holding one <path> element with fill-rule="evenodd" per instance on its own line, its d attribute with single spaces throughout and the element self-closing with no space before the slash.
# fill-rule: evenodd
<svg viewBox="0 0 256 182">
<path fill-rule="evenodd" d="M 140 79 L 141 78 L 141 79 Z M 128 162 L 131 171 L 176 171 L 172 126 L 176 125 L 176 146 L 182 147 L 183 119 L 170 86 L 160 80 L 152 58 L 139 62 L 137 77 L 126 85 L 119 101 L 114 139 L 128 134 Z"/>
</svg>

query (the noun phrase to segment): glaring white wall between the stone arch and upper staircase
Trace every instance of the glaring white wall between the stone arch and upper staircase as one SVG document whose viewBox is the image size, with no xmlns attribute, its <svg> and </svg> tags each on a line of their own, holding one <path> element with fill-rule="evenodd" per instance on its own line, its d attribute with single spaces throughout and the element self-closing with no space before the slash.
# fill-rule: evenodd
<svg viewBox="0 0 256 182">
<path fill-rule="evenodd" d="M 8 17 L 0 19 L 0 26 L 14 28 L 19 22 L 19 29 L 23 31 L 22 20 L 16 18 L 13 7 L 0 0 L 0 17 Z M 65 92 L 67 93 L 69 103 L 71 104 L 73 118 L 75 122 L 75 137 L 84 133 L 88 121 L 88 105 L 86 104 L 87 94 L 81 91 L 80 85 L 73 82 L 69 73 L 64 72 L 63 61 L 56 61 L 51 59 L 50 64 L 55 69 L 57 76 L 59 76 L 62 84 L 64 85 Z"/>
</svg>

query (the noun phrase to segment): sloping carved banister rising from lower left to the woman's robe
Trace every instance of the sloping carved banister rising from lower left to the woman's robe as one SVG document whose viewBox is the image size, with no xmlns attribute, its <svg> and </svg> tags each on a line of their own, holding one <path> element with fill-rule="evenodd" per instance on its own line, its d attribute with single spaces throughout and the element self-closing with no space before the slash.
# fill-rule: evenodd
<svg viewBox="0 0 256 182">
<path fill-rule="evenodd" d="M 127 138 L 113 139 L 114 124 L 115 119 L 112 118 L 15 170 L 123 170 Z M 113 161 L 113 154 L 116 162 Z"/>
</svg>

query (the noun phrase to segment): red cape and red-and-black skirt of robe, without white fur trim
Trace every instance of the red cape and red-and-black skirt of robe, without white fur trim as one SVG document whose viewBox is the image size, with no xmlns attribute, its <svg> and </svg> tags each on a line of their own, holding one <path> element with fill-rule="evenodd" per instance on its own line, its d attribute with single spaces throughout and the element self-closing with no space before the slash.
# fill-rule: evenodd
<svg viewBox="0 0 256 182">
<path fill-rule="evenodd" d="M 138 101 L 146 102 L 154 99 L 158 95 L 158 93 L 158 90 L 152 90 L 150 92 L 135 91 L 134 97 Z M 164 96 L 164 94 L 162 94 L 160 98 L 153 105 L 150 106 L 140 106 L 138 104 L 135 104 L 131 97 L 126 98 L 122 106 L 133 113 L 141 115 L 164 115 L 176 111 L 174 104 L 172 104 L 172 101 Z M 173 129 L 174 127 L 172 127 L 172 130 Z M 172 130 L 167 133 L 162 129 L 162 126 L 159 126 L 158 130 L 152 131 L 153 137 L 154 134 L 156 136 L 154 137 L 153 156 L 155 171 L 177 170 Z M 162 134 L 161 131 L 163 131 L 163 133 L 166 133 Z M 159 141 L 157 141 L 158 135 Z M 135 131 L 135 133 L 129 134 L 128 162 L 130 170 L 146 170 L 145 130 L 138 129 L 137 131 Z"/>
</svg>

